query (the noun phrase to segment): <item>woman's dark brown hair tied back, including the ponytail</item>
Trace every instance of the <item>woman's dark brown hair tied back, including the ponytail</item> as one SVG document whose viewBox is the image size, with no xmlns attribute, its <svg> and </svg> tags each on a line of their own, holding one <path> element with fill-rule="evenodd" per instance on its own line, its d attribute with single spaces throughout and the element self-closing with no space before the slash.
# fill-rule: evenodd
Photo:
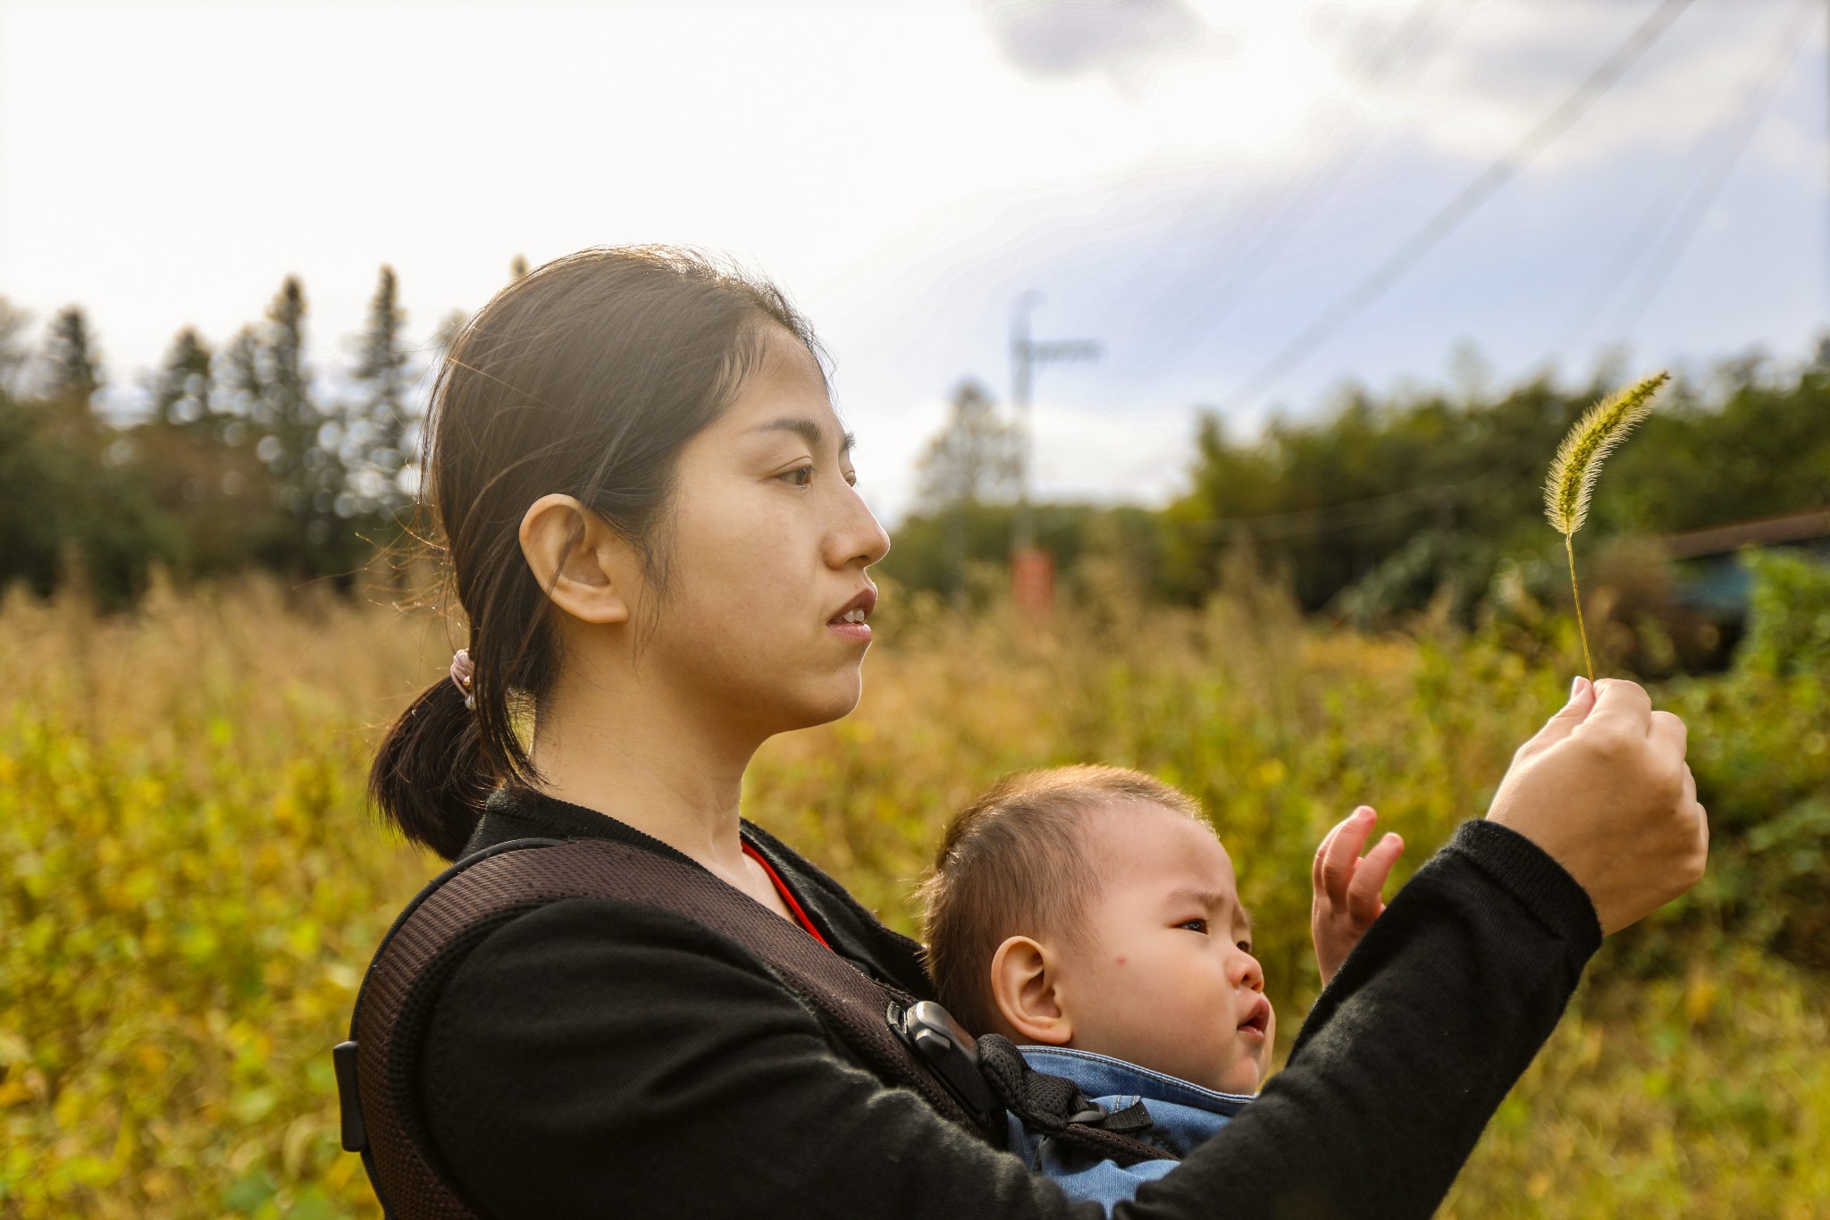
<svg viewBox="0 0 1830 1220">
<path fill-rule="evenodd" d="M 818 357 L 770 284 L 694 251 L 620 247 L 531 271 L 459 329 L 432 388 L 421 499 L 468 620 L 476 706 L 439 679 L 382 739 L 370 796 L 406 838 L 454 860 L 494 788 L 538 779 L 516 719 L 538 713 L 562 658 L 522 556 L 527 507 L 576 496 L 664 587 L 679 450 L 728 406 L 774 327 Z"/>
</svg>

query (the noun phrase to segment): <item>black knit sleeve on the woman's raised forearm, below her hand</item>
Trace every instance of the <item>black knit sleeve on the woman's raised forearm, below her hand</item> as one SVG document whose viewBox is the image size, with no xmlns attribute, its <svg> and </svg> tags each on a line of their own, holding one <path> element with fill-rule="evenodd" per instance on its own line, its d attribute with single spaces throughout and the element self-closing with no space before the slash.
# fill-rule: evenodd
<svg viewBox="0 0 1830 1220">
<path fill-rule="evenodd" d="M 1131 1215 L 1429 1216 L 1599 946 L 1556 860 L 1462 823 L 1341 964 L 1283 1072 Z M 1219 1171 L 1208 1211 L 1169 1189 L 1197 1158 Z"/>
</svg>

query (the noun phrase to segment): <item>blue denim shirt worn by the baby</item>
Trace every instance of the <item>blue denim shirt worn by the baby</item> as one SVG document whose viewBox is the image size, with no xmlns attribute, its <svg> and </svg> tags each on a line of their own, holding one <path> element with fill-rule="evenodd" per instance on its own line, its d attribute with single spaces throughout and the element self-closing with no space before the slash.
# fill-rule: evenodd
<svg viewBox="0 0 1830 1220">
<path fill-rule="evenodd" d="M 1087 1050 L 1063 1050 L 1060 1046 L 1019 1046 L 1017 1050 L 1038 1072 L 1065 1076 L 1080 1085 L 1080 1092 L 1089 1099 L 1109 1110 L 1124 1110 L 1133 1101 L 1142 1101 L 1144 1108 L 1149 1110 L 1151 1127 L 1136 1132 L 1138 1140 L 1179 1156 L 1217 1132 L 1244 1103 L 1252 1101 L 1244 1094 L 1219 1094 Z M 1107 1216 L 1113 1215 L 1114 1204 L 1135 1198 L 1140 1183 L 1155 1182 L 1179 1163 L 1138 1161 L 1122 1169 L 1116 1161 L 1102 1161 L 1091 1152 L 1063 1147 L 1054 1138 L 1030 1130 L 1017 1118 L 1008 1121 L 1010 1140 L 1006 1147 L 1021 1156 L 1030 1171 L 1054 1178 L 1069 1198 L 1102 1204 Z"/>
</svg>

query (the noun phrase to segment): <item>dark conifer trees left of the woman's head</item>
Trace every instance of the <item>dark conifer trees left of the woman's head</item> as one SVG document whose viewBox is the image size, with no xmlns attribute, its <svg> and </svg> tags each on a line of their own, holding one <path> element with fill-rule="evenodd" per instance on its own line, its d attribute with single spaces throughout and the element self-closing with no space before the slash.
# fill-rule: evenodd
<svg viewBox="0 0 1830 1220">
<path fill-rule="evenodd" d="M 265 315 L 212 346 L 178 331 L 126 419 L 102 410 L 104 368 L 81 305 L 42 344 L 0 300 L 0 585 L 84 580 L 128 604 L 154 567 L 179 580 L 251 567 L 348 585 L 395 543 L 414 503 L 421 359 L 382 267 L 337 390 L 307 349 L 287 276 Z M 456 324 L 447 318 L 434 351 Z"/>
</svg>

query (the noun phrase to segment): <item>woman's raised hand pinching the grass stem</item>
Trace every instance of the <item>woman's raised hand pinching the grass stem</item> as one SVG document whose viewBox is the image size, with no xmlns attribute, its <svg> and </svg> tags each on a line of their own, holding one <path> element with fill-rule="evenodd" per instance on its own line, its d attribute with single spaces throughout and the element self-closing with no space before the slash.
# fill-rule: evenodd
<svg viewBox="0 0 1830 1220">
<path fill-rule="evenodd" d="M 1616 933 L 1702 880 L 1709 818 L 1684 748 L 1684 721 L 1652 712 L 1640 684 L 1576 679 L 1513 754 L 1488 818 L 1550 852 Z"/>
</svg>

